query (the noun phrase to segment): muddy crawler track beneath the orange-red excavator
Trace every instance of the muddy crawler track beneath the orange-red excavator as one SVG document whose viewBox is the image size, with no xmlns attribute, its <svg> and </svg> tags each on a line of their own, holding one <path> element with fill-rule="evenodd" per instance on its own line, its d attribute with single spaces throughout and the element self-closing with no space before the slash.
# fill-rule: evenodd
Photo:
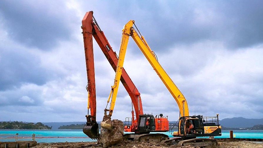
<svg viewBox="0 0 263 148">
<path fill-rule="evenodd" d="M 166 134 L 139 134 L 135 135 L 133 141 L 138 142 L 161 142 L 169 139 Z"/>
</svg>

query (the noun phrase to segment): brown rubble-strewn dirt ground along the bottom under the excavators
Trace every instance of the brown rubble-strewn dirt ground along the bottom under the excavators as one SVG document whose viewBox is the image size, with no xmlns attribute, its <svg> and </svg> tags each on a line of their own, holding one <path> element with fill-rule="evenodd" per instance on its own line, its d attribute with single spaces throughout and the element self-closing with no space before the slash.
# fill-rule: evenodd
<svg viewBox="0 0 263 148">
<path fill-rule="evenodd" d="M 217 140 L 217 146 L 208 146 L 206 148 L 263 148 L 263 143 L 249 142 L 249 141 L 229 141 Z M 173 148 L 180 147 L 177 145 L 167 145 L 163 143 L 154 142 L 134 142 L 124 141 L 110 148 Z M 53 144 L 51 146 L 36 146 L 34 148 L 103 148 L 102 145 L 96 142 L 66 142 L 64 144 Z M 183 148 L 192 148 L 184 146 Z M 197 147 L 198 148 L 198 147 Z"/>
</svg>

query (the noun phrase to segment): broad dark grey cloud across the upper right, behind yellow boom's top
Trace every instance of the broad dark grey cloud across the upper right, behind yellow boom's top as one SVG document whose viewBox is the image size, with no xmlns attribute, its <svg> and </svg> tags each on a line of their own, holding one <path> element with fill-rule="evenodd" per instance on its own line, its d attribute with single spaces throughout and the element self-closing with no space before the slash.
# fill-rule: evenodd
<svg viewBox="0 0 263 148">
<path fill-rule="evenodd" d="M 125 9 L 133 11 L 119 13 L 116 9 L 110 13 L 123 25 L 134 19 L 149 46 L 157 52 L 204 40 L 223 42 L 234 50 L 263 42 L 262 1 L 127 3 Z"/>
</svg>

